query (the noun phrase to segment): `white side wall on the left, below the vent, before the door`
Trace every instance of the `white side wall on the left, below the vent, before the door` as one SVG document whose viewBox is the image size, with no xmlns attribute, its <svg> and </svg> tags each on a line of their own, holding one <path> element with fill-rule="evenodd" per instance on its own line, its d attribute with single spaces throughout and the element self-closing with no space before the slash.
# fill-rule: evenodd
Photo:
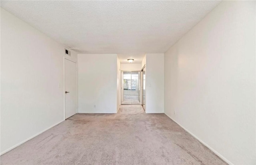
<svg viewBox="0 0 256 165">
<path fill-rule="evenodd" d="M 2 8 L 1 41 L 3 154 L 64 120 L 64 46 Z"/>
</svg>

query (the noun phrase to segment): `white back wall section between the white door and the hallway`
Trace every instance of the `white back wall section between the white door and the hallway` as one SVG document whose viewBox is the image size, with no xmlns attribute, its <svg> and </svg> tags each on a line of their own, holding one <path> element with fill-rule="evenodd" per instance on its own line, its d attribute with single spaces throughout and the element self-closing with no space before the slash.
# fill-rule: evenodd
<svg viewBox="0 0 256 165">
<path fill-rule="evenodd" d="M 78 113 L 116 113 L 117 60 L 117 54 L 78 54 Z"/>
</svg>

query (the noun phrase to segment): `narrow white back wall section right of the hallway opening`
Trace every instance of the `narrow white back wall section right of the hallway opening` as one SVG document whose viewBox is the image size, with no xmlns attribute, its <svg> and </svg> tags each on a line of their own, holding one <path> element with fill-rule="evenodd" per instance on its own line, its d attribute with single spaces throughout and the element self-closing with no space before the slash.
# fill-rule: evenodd
<svg viewBox="0 0 256 165">
<path fill-rule="evenodd" d="M 163 53 L 146 54 L 146 113 L 164 113 Z"/>
</svg>

